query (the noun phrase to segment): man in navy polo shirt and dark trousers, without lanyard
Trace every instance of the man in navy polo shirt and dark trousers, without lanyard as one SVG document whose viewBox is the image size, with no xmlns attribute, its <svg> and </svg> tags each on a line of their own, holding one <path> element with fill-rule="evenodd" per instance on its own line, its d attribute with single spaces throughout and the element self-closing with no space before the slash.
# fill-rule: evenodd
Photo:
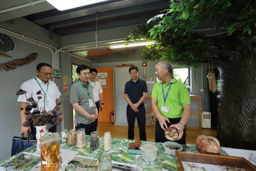
<svg viewBox="0 0 256 171">
<path fill-rule="evenodd" d="M 131 80 L 125 83 L 124 99 L 128 103 L 126 117 L 128 122 L 128 139 L 134 139 L 135 118 L 137 118 L 140 130 L 140 140 L 146 141 L 146 110 L 144 100 L 147 94 L 146 82 L 139 79 L 138 68 L 129 68 Z"/>
</svg>

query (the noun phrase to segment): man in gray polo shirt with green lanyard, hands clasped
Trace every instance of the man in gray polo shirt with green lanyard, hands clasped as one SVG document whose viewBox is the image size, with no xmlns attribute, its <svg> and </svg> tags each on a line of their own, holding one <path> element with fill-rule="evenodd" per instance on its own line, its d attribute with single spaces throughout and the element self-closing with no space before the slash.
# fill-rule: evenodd
<svg viewBox="0 0 256 171">
<path fill-rule="evenodd" d="M 71 86 L 70 103 L 75 110 L 75 129 L 84 128 L 86 134 L 93 131 L 93 122 L 98 118 L 98 110 L 90 88 L 90 69 L 79 65 L 76 69 L 79 79 Z"/>
</svg>

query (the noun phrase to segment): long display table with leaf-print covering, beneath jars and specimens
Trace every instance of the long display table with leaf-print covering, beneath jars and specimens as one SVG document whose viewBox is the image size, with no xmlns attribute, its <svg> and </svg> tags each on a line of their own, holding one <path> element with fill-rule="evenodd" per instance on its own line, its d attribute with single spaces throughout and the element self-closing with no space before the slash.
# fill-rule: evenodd
<svg viewBox="0 0 256 171">
<path fill-rule="evenodd" d="M 61 170 L 65 170 L 64 165 L 66 165 L 74 156 L 81 156 L 81 157 L 86 157 L 86 158 L 90 158 L 90 159 L 94 159 L 94 158 L 98 157 L 99 152 L 102 152 L 103 137 L 99 137 L 99 149 L 97 149 L 96 151 L 91 151 L 90 146 L 89 146 L 89 144 L 90 144 L 89 138 L 90 138 L 90 136 L 86 135 L 86 147 L 84 147 L 84 148 L 77 148 L 76 146 L 70 146 L 67 143 L 62 143 L 62 142 L 60 143 L 60 149 L 61 149 L 60 156 L 62 157 L 63 160 L 65 160 L 62 162 Z M 112 141 L 111 141 L 112 148 L 111 148 L 111 151 L 109 152 L 112 155 L 112 161 L 126 163 L 133 167 L 136 167 L 137 159 L 140 157 L 140 155 L 127 153 L 127 147 L 130 142 L 134 142 L 134 140 L 112 138 Z M 162 143 L 159 143 L 159 142 L 154 142 L 154 143 L 159 147 L 158 158 L 162 161 L 163 170 L 177 170 L 176 157 L 167 155 L 164 152 L 164 147 L 163 147 Z M 183 146 L 182 151 L 198 153 L 195 145 L 182 145 L 182 146 Z M 118 153 L 119 147 L 123 148 L 122 154 Z M 244 155 L 245 157 L 247 155 L 248 157 L 246 159 L 248 161 L 251 160 L 250 162 L 252 164 L 256 165 L 256 161 L 255 161 L 256 152 L 255 151 L 245 151 L 242 149 L 221 147 L 221 155 L 228 156 L 229 154 L 232 154 L 232 156 L 234 156 L 234 154 L 238 154 L 236 151 L 239 152 L 239 155 L 243 155 L 243 153 L 245 154 Z M 39 169 L 38 167 L 40 166 L 40 152 L 38 150 L 36 151 L 36 146 L 34 145 L 34 146 L 30 147 L 22 153 L 26 154 L 27 158 L 29 158 L 29 159 L 27 159 L 27 160 L 21 159 L 22 161 L 25 160 L 25 162 L 20 163 L 20 165 L 21 165 L 19 167 L 20 170 L 30 170 L 31 168 L 32 168 L 32 170 L 38 170 Z M 20 153 L 20 154 L 22 154 L 22 153 Z M 28 156 L 30 156 L 30 157 L 28 157 Z M 244 157 L 244 156 L 240 156 L 240 157 Z M 13 162 L 14 158 L 15 158 L 15 156 L 12 156 L 4 161 L 1 161 L 0 162 L 0 171 L 5 170 L 3 166 L 7 167 L 8 170 L 12 170 L 13 167 L 11 165 L 13 165 L 13 163 L 14 163 Z M 20 158 L 22 158 L 22 157 L 20 157 Z M 26 158 L 26 157 L 23 156 L 23 158 Z M 91 161 L 93 161 L 93 160 L 91 160 Z M 34 168 L 35 165 L 37 165 L 37 169 Z M 91 166 L 91 168 L 89 168 L 89 166 L 88 166 L 88 170 L 94 170 L 94 167 Z"/>
</svg>

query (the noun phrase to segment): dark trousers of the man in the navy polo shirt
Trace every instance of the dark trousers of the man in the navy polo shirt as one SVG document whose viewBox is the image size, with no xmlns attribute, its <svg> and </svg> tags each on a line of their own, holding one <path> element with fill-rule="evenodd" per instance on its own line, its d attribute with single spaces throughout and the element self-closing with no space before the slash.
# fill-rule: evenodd
<svg viewBox="0 0 256 171">
<path fill-rule="evenodd" d="M 130 105 L 126 108 L 128 122 L 128 139 L 134 139 L 135 118 L 137 118 L 140 130 L 140 140 L 146 141 L 146 110 L 144 104 L 138 107 L 139 112 L 134 112 Z"/>
</svg>

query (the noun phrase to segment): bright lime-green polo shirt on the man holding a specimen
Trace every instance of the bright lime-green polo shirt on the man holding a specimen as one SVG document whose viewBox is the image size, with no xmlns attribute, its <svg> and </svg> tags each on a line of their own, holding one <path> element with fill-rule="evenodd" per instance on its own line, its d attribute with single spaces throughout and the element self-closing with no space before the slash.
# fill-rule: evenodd
<svg viewBox="0 0 256 171">
<path fill-rule="evenodd" d="M 164 96 L 166 96 L 167 90 L 170 87 L 167 99 L 165 101 L 165 106 L 169 107 L 169 111 L 161 111 L 162 106 L 164 106 L 164 99 L 162 93 L 162 84 L 164 89 Z M 161 115 L 167 118 L 179 118 L 183 114 L 183 105 L 190 104 L 189 92 L 182 82 L 173 78 L 172 81 L 168 82 L 166 85 L 160 81 L 154 85 L 152 91 L 152 98 L 157 98 L 157 106 Z"/>
</svg>

